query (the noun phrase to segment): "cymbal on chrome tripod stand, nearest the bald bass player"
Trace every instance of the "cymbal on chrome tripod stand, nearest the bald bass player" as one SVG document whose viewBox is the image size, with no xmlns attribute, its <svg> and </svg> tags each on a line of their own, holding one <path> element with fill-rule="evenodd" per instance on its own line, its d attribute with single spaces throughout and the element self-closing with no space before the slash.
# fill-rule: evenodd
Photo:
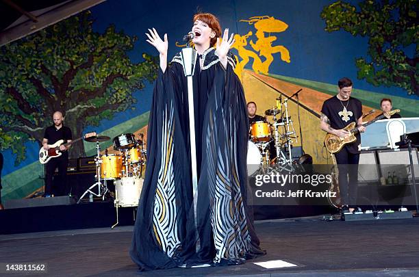
<svg viewBox="0 0 419 277">
<path fill-rule="evenodd" d="M 81 195 L 81 197 L 79 198 L 79 200 L 77 201 L 77 204 L 81 201 L 81 199 L 84 198 L 84 196 L 86 196 L 86 194 L 90 195 L 94 195 L 97 197 L 102 197 L 102 200 L 105 200 L 105 194 L 107 194 L 107 192 L 109 192 L 109 189 L 107 189 L 107 184 L 105 183 L 105 185 L 102 184 L 102 178 L 101 178 L 101 163 L 102 163 L 102 159 L 101 159 L 101 146 L 99 144 L 99 142 L 105 142 L 107 140 L 110 140 L 110 137 L 107 137 L 105 135 L 96 135 L 93 137 L 87 137 L 86 142 L 96 142 L 96 157 L 94 158 L 94 163 L 96 164 L 96 183 L 94 183 L 93 185 L 91 185 L 86 192 L 84 192 L 84 194 Z M 93 188 L 97 187 L 97 193 L 93 191 Z"/>
</svg>

